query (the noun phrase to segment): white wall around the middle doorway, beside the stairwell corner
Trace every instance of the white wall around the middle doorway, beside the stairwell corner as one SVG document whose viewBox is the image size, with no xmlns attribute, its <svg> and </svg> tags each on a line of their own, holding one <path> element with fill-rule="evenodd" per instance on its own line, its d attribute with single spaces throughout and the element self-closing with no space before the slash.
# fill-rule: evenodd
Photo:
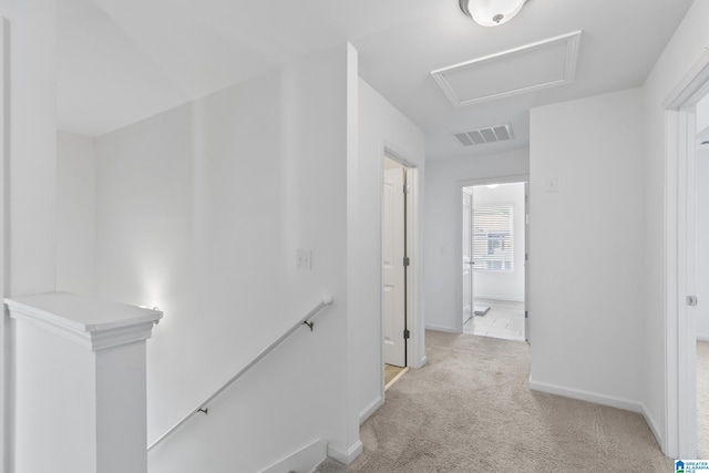
<svg viewBox="0 0 709 473">
<path fill-rule="evenodd" d="M 351 319 L 357 321 L 354 337 L 354 343 L 359 347 L 356 373 L 359 382 L 357 405 L 360 418 L 364 418 L 381 402 L 383 381 L 381 364 L 382 157 L 387 147 L 405 158 L 409 165 L 417 167 L 419 176 L 417 195 L 422 202 L 424 146 L 423 133 L 362 80 L 359 81 L 358 132 L 359 160 L 348 178 L 352 192 L 357 194 L 353 200 L 357 205 L 351 208 L 353 220 L 348 229 L 348 244 L 352 245 L 348 265 L 350 270 L 360 275 L 360 278 L 349 292 L 348 309 Z M 421 256 L 414 255 L 412 259 L 420 263 Z M 421 265 L 418 265 L 418 268 L 420 271 Z M 409 341 L 418 346 L 417 350 L 411 351 L 418 352 L 419 359 L 409 360 L 414 367 L 424 362 L 422 322 L 423 317 L 412 330 L 412 339 Z"/>
</svg>

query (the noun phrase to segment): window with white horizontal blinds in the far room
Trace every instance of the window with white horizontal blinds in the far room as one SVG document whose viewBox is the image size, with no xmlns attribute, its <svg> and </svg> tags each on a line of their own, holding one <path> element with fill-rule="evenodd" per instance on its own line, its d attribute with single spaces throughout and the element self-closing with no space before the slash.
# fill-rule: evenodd
<svg viewBox="0 0 709 473">
<path fill-rule="evenodd" d="M 473 259 L 479 271 L 512 271 L 512 205 L 473 209 Z"/>
</svg>

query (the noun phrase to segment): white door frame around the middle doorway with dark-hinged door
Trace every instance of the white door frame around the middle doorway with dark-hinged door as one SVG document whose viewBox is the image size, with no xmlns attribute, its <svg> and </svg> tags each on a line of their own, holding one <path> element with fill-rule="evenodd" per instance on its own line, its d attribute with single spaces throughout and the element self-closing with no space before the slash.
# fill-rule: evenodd
<svg viewBox="0 0 709 473">
<path fill-rule="evenodd" d="M 382 205 L 383 205 L 383 184 L 384 184 L 384 156 L 401 164 L 407 168 L 407 183 L 410 187 L 410 192 L 405 195 L 407 202 L 407 218 L 405 218 L 405 232 L 407 232 L 407 255 L 410 258 L 409 267 L 407 268 L 407 329 L 410 337 L 407 340 L 407 367 L 421 368 L 427 363 L 425 357 L 425 331 L 423 329 L 423 315 L 421 310 L 421 208 L 423 203 L 421 202 L 421 182 L 419 168 L 415 164 L 405 158 L 405 155 L 397 151 L 395 146 L 384 143 L 382 152 L 379 157 L 380 169 L 380 183 L 379 183 L 379 212 L 380 222 L 383 218 Z M 381 228 L 383 230 L 383 228 Z M 379 251 L 380 251 L 380 271 L 383 271 L 381 260 L 383 258 L 383 233 L 380 232 Z M 380 273 L 380 282 L 383 280 L 383 275 Z M 381 284 L 380 291 L 381 291 Z M 380 335 L 383 335 L 383 298 L 380 295 Z M 380 337 L 381 338 L 381 337 Z M 383 341 L 383 340 L 382 340 Z M 381 384 L 380 392 L 381 399 L 384 399 L 384 351 L 383 345 L 379 350 L 381 366 Z"/>
</svg>

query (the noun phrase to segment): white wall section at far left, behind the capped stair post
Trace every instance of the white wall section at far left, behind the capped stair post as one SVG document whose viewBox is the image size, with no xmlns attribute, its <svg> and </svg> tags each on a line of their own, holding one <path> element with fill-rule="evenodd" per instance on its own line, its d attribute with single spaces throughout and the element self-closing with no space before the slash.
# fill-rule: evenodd
<svg viewBox="0 0 709 473">
<path fill-rule="evenodd" d="M 54 0 L 0 0 L 4 34 L 2 287 L 0 296 L 54 289 L 56 8 Z M 7 56 L 7 59 L 6 59 Z M 6 109 L 9 104 L 9 110 Z M 3 230 L 4 232 L 4 230 Z M 7 321 L 0 325 L 6 340 Z M 0 353 L 0 463 L 11 471 L 8 451 L 14 410 L 6 380 L 9 347 Z M 27 445 L 22 445 L 25 448 Z M 17 471 L 22 471 L 22 464 Z"/>
</svg>

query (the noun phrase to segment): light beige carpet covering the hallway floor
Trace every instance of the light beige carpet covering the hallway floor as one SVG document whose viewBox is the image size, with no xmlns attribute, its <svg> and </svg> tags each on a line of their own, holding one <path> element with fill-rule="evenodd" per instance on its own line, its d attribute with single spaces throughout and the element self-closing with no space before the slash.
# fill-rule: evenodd
<svg viewBox="0 0 709 473">
<path fill-rule="evenodd" d="M 640 415 L 531 392 L 525 342 L 428 331 L 427 354 L 361 426 L 350 472 L 674 471 Z"/>
</svg>

